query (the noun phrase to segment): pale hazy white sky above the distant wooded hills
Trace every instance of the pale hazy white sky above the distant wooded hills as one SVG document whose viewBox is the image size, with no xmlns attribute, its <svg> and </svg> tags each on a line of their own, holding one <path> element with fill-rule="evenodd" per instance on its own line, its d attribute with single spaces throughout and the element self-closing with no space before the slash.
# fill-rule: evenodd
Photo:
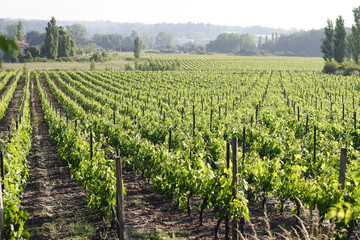
<svg viewBox="0 0 360 240">
<path fill-rule="evenodd" d="M 338 15 L 353 23 L 358 0 L 5 0 L 0 18 L 322 28 Z"/>
</svg>

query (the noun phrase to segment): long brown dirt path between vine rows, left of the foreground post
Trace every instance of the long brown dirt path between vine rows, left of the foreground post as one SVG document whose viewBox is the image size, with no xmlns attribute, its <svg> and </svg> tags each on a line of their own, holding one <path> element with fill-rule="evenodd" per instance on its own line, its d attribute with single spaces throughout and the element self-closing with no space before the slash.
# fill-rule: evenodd
<svg viewBox="0 0 360 240">
<path fill-rule="evenodd" d="M 22 202 L 29 213 L 25 228 L 30 239 L 98 239 L 102 220 L 86 208 L 84 190 L 70 178 L 67 163 L 61 161 L 50 141 L 34 80 L 30 91 L 33 142 L 28 161 L 30 175 Z M 60 108 L 56 99 L 48 96 Z"/>
</svg>

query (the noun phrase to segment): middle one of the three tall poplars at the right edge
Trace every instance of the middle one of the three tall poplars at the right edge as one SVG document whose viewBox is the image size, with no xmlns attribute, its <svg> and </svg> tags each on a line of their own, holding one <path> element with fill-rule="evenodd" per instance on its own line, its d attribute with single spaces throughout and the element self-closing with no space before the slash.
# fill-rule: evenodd
<svg viewBox="0 0 360 240">
<path fill-rule="evenodd" d="M 334 59 L 338 63 L 342 63 L 345 57 L 346 50 L 346 30 L 344 25 L 344 19 L 339 16 L 336 19 L 335 31 L 334 31 Z"/>
</svg>

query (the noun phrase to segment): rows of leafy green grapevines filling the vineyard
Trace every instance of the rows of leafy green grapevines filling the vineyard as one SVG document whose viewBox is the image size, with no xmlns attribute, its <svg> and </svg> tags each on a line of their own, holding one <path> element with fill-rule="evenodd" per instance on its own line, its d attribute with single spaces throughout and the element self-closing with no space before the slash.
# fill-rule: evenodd
<svg viewBox="0 0 360 240">
<path fill-rule="evenodd" d="M 23 207 L 23 201 L 25 209 L 31 205 L 26 186 L 36 167 L 28 159 L 34 142 L 41 148 L 42 141 L 33 137 L 31 103 L 38 104 L 46 134 L 84 191 L 91 216 L 114 219 L 119 149 L 125 175 L 147 179 L 177 209 L 195 214 L 196 224 L 214 222 L 199 238 L 225 239 L 235 227 L 254 234 L 248 221 L 259 220 L 256 204 L 262 211 L 272 206 L 279 216 L 293 210 L 293 219 L 316 215 L 329 238 L 356 234 L 357 76 L 312 72 L 306 63 L 298 72 L 251 70 L 215 57 L 179 61 L 187 71 L 0 72 L 6 239 L 38 234 L 34 225 L 27 229 L 32 216 Z M 124 186 L 126 201 L 131 189 Z M 125 206 L 125 226 L 131 214 Z M 270 237 L 265 230 L 258 234 Z"/>
</svg>

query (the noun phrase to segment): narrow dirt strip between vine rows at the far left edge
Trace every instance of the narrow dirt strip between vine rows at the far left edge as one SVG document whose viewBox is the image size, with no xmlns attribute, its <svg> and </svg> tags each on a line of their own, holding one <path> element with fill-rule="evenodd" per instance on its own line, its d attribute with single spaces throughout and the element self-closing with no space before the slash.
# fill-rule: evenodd
<svg viewBox="0 0 360 240">
<path fill-rule="evenodd" d="M 13 80 L 9 80 L 9 82 L 11 82 L 12 84 Z M 4 89 L 7 89 L 9 86 L 10 85 L 4 87 Z M 24 93 L 24 86 L 25 86 L 25 78 L 22 77 L 16 86 L 14 96 L 9 103 L 9 106 L 5 112 L 5 116 L 2 119 L 0 119 L 0 138 L 2 139 L 7 139 L 7 135 L 9 134 L 9 125 L 11 124 L 11 121 L 13 121 L 17 116 L 17 114 L 19 113 L 19 109 L 21 106 L 21 98 Z"/>
</svg>

